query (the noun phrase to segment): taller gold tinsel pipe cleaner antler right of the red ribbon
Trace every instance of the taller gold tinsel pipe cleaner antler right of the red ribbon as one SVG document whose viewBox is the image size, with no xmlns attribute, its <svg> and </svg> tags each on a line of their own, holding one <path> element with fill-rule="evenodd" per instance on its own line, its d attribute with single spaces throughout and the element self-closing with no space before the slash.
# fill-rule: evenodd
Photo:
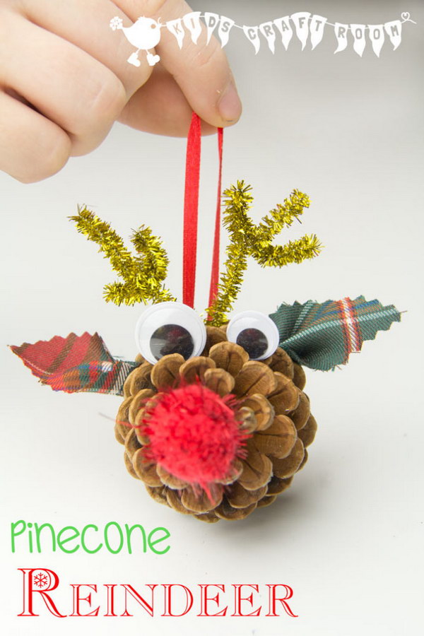
<svg viewBox="0 0 424 636">
<path fill-rule="evenodd" d="M 254 225 L 247 211 L 252 207 L 251 186 L 237 181 L 224 191 L 225 211 L 223 224 L 230 232 L 227 247 L 225 271 L 220 277 L 216 300 L 206 310 L 208 324 L 220 326 L 227 322 L 226 313 L 240 292 L 243 276 L 247 269 L 247 257 L 253 257 L 262 267 L 283 267 L 289 263 L 301 263 L 316 257 L 322 249 L 316 235 L 305 235 L 286 245 L 272 245 L 271 241 L 284 227 L 290 227 L 295 219 L 310 206 L 310 199 L 299 190 L 293 190 L 290 199 L 278 204 L 264 216 L 259 225 Z"/>
</svg>

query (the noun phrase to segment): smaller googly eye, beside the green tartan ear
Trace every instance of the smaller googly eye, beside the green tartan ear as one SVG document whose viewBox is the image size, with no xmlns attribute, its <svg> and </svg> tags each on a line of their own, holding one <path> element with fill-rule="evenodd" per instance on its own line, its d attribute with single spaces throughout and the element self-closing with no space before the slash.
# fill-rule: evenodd
<svg viewBox="0 0 424 636">
<path fill-rule="evenodd" d="M 227 327 L 227 338 L 249 353 L 251 360 L 264 360 L 272 355 L 280 341 L 278 329 L 266 314 L 261 312 L 240 312 Z"/>
</svg>

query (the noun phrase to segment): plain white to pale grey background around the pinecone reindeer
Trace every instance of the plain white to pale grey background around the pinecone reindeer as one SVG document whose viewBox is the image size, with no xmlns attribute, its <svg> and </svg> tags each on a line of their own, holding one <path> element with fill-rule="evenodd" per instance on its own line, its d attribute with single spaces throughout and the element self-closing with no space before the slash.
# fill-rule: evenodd
<svg viewBox="0 0 424 636">
<path fill-rule="evenodd" d="M 193 3 L 258 24 L 293 11 L 329 21 L 382 23 L 410 11 L 396 52 L 380 59 L 367 46 L 336 56 L 326 27 L 314 50 L 263 43 L 255 57 L 242 32 L 227 47 L 244 114 L 225 132 L 223 184 L 254 187 L 258 220 L 294 187 L 310 194 L 302 227 L 325 245 L 314 261 L 283 270 L 249 264 L 238 310 L 275 310 L 359 294 L 394 303 L 401 324 L 365 343 L 334 373 L 308 372 L 319 432 L 310 461 L 271 507 L 244 522 L 207 525 L 158 505 L 127 473 L 112 419 L 119 398 L 55 394 L 41 387 L 6 348 L 69 331 L 98 331 L 112 353 L 133 358 L 141 307 L 106 305 L 114 275 L 67 216 L 87 204 L 124 237 L 141 223 L 163 237 L 168 283 L 181 281 L 183 139 L 114 126 L 105 143 L 69 161 L 59 175 L 23 185 L 0 175 L 3 241 L 1 331 L 1 623 L 7 635 L 325 635 L 353 636 L 422 628 L 423 567 L 423 4 L 329 0 Z M 134 69 L 136 72 L 136 69 Z M 216 138 L 204 140 L 197 309 L 206 306 L 216 188 Z M 223 240 L 225 243 L 225 239 Z M 104 416 L 107 416 L 106 418 Z M 108 419 L 110 418 L 110 419 Z M 166 555 L 66 555 L 46 549 L 11 554 L 10 524 L 49 522 L 57 531 L 109 521 L 165 526 Z M 18 567 L 49 567 L 61 578 L 59 608 L 71 613 L 70 583 L 98 584 L 93 606 L 105 613 L 104 583 L 286 583 L 299 618 L 17 618 Z M 258 603 L 266 598 L 257 597 Z M 195 600 L 199 606 L 198 598 Z M 158 603 L 158 614 L 162 601 Z M 198 610 L 197 610 L 198 611 Z"/>
</svg>

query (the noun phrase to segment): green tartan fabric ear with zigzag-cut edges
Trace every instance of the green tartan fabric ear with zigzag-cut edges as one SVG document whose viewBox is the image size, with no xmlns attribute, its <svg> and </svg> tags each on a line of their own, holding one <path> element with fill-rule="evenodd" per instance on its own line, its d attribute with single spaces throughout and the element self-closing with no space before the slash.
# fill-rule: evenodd
<svg viewBox="0 0 424 636">
<path fill-rule="evenodd" d="M 374 340 L 377 331 L 386 331 L 401 314 L 394 305 L 378 300 L 327 300 L 281 305 L 270 318 L 280 333 L 280 346 L 300 365 L 328 371 L 348 362 L 363 341 Z"/>
</svg>

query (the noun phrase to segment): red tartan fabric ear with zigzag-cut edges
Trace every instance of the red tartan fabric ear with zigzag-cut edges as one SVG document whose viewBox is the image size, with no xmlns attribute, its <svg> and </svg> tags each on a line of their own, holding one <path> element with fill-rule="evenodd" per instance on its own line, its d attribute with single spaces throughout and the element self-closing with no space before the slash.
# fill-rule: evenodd
<svg viewBox="0 0 424 636">
<path fill-rule="evenodd" d="M 49 341 L 11 346 L 42 384 L 54 391 L 93 391 L 122 395 L 126 376 L 137 363 L 115 360 L 98 334 L 54 336 Z"/>
</svg>

